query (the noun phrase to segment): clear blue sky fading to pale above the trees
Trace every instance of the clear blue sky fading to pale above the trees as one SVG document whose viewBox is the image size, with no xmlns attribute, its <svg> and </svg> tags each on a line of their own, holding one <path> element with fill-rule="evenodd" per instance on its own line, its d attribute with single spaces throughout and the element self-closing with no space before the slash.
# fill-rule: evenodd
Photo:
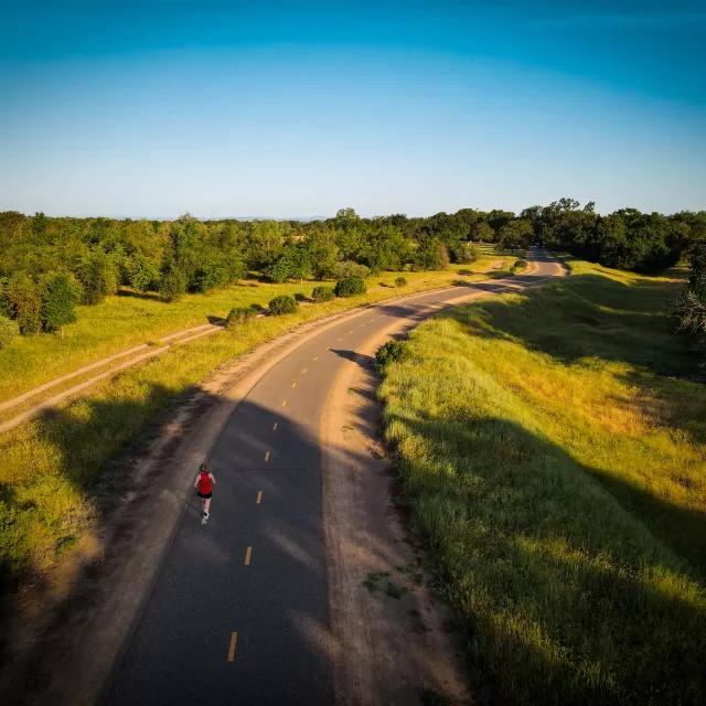
<svg viewBox="0 0 706 706">
<path fill-rule="evenodd" d="M 0 210 L 706 208 L 706 4 L 0 0 Z"/>
</svg>

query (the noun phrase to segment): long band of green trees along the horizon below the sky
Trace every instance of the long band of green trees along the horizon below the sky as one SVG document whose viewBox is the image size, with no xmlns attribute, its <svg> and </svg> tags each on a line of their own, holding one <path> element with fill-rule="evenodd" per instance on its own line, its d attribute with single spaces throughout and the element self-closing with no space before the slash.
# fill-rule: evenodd
<svg viewBox="0 0 706 706">
<path fill-rule="evenodd" d="M 675 264 L 706 239 L 706 212 L 599 215 L 560 199 L 510 211 L 462 208 L 429 217 L 360 217 L 342 208 L 312 221 L 176 221 L 49 217 L 0 213 L 0 315 L 21 333 L 61 331 L 75 304 L 120 287 L 173 301 L 257 272 L 269 281 L 365 277 L 381 270 L 442 269 L 470 263 L 477 243 L 523 249 L 533 243 L 610 267 L 643 272 Z M 1 343 L 0 343 L 1 344 Z"/>
</svg>

